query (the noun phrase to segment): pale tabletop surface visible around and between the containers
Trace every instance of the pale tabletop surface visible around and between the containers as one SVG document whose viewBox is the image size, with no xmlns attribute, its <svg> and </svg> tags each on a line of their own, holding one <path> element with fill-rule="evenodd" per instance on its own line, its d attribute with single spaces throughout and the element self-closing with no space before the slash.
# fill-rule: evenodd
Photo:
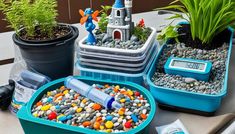
<svg viewBox="0 0 235 134">
<path fill-rule="evenodd" d="M 161 29 L 163 25 L 169 24 L 170 21 L 165 20 L 165 18 L 170 17 L 170 14 L 158 15 L 157 12 L 146 12 L 133 15 L 133 21 L 138 22 L 141 18 L 145 20 L 146 26 L 155 27 Z M 180 20 L 179 20 L 180 21 Z M 178 23 L 175 21 L 173 24 Z M 75 24 L 79 28 L 79 39 L 83 38 L 86 35 L 85 29 L 80 24 Z M 14 47 L 11 40 L 13 32 L 6 32 L 0 34 L 0 59 L 9 59 L 14 57 Z M 234 48 L 235 49 L 235 48 Z M 165 125 L 171 123 L 177 119 L 180 119 L 185 125 L 186 129 L 191 134 L 207 134 L 212 132 L 212 130 L 219 128 L 223 125 L 223 122 L 226 122 L 230 118 L 234 117 L 232 113 L 235 113 L 235 54 L 232 51 L 232 58 L 230 61 L 230 70 L 229 70 L 229 81 L 228 81 L 228 94 L 223 99 L 220 109 L 216 112 L 213 117 L 204 117 L 199 115 L 180 113 L 180 112 L 171 112 L 161 109 L 157 109 L 157 113 L 150 124 L 150 133 L 156 133 L 156 126 Z M 7 83 L 10 70 L 13 64 L 7 64 L 0 66 L 0 85 Z M 18 119 L 12 115 L 9 111 L 0 111 L 0 133 L 4 134 L 22 134 L 24 133 Z"/>
</svg>

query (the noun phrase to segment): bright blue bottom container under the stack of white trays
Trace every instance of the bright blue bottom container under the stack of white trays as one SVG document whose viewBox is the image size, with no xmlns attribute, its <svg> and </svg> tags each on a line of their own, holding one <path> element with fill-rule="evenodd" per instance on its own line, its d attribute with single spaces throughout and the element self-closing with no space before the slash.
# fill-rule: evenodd
<svg viewBox="0 0 235 134">
<path fill-rule="evenodd" d="M 151 59 L 147 63 L 148 65 L 145 67 L 145 70 L 142 73 L 137 73 L 137 74 L 84 68 L 81 65 L 79 65 L 79 62 L 76 63 L 75 68 L 77 69 L 78 74 L 80 76 L 85 76 L 85 77 L 89 77 L 92 79 L 111 80 L 111 81 L 118 81 L 118 82 L 129 81 L 129 82 L 133 82 L 139 85 L 146 85 L 147 84 L 146 75 L 157 53 L 158 53 L 157 49 L 153 51 Z"/>
</svg>

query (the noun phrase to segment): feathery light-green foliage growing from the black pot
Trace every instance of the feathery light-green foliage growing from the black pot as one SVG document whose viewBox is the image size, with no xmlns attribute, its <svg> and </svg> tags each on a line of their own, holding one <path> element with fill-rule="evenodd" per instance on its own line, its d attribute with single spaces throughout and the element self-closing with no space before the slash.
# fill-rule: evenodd
<svg viewBox="0 0 235 134">
<path fill-rule="evenodd" d="M 9 3 L 0 0 L 0 10 L 5 14 L 9 27 L 17 34 L 23 28 L 27 36 L 34 36 L 36 28 L 50 35 L 57 25 L 56 7 L 56 0 L 11 0 Z"/>
</svg>

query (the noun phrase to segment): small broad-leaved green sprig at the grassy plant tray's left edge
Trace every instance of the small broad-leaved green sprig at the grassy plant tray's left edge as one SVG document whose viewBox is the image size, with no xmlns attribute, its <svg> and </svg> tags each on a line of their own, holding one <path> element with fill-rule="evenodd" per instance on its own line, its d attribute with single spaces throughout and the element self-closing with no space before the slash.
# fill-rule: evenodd
<svg viewBox="0 0 235 134">
<path fill-rule="evenodd" d="M 165 27 L 161 33 L 158 34 L 157 39 L 158 40 L 162 40 L 163 42 L 166 42 L 168 39 L 175 39 L 176 42 L 179 42 L 178 40 L 178 32 L 176 31 L 177 28 L 179 28 L 180 26 L 172 26 L 169 25 L 167 27 Z"/>
</svg>

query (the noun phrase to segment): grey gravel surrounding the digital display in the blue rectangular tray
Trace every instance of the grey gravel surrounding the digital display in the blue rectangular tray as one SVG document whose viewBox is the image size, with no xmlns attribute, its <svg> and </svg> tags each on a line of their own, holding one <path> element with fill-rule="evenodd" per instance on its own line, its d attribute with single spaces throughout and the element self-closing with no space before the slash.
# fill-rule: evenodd
<svg viewBox="0 0 235 134">
<path fill-rule="evenodd" d="M 168 44 L 160 56 L 157 70 L 152 77 L 152 81 L 157 86 L 185 90 L 202 94 L 218 94 L 224 84 L 226 72 L 228 44 L 224 44 L 214 50 L 201 50 L 185 47 L 184 44 Z M 164 73 L 164 64 L 171 56 L 180 58 L 193 58 L 198 60 L 208 60 L 213 63 L 212 73 L 208 82 L 198 81 L 193 78 L 185 78 L 177 75 Z"/>
</svg>

